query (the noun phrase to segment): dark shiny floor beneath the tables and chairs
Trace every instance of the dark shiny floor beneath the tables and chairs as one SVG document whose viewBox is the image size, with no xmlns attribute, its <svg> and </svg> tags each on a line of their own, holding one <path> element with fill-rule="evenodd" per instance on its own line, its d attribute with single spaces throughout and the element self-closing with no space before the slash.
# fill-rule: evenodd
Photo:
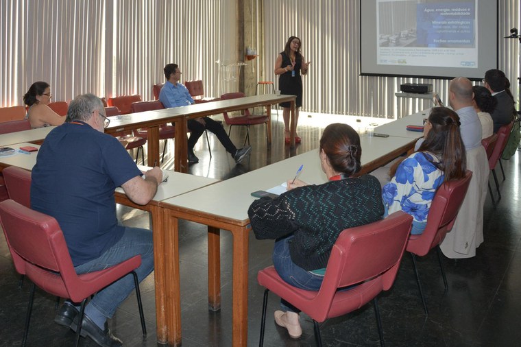
<svg viewBox="0 0 521 347">
<path fill-rule="evenodd" d="M 205 147 L 197 147 L 201 162 L 191 173 L 226 179 L 243 172 L 274 163 L 295 153 L 317 147 L 321 127 L 300 127 L 303 143 L 290 153 L 280 136 L 282 125 L 274 128 L 274 145 L 266 149 L 263 130 L 252 131 L 254 150 L 250 160 L 234 165 L 232 158 L 210 136 L 213 158 Z M 232 130 L 234 143 L 241 143 L 244 132 Z M 199 145 L 204 145 L 199 141 Z M 317 162 L 318 163 L 318 162 Z M 167 161 L 163 167 L 169 167 Z M 504 160 L 507 180 L 501 183 L 502 200 L 493 210 L 489 199 L 485 204 L 485 243 L 472 259 L 444 259 L 449 290 L 439 274 L 436 255 L 419 260 L 420 276 L 429 307 L 425 317 L 411 259 L 406 254 L 393 288 L 380 296 L 385 339 L 389 346 L 519 346 L 521 341 L 521 215 L 520 153 Z M 149 227 L 149 216 L 141 211 L 119 208 L 121 219 L 132 226 Z M 229 232 L 221 232 L 222 309 L 208 311 L 207 250 L 204 226 L 182 222 L 180 225 L 180 270 L 183 346 L 231 346 L 231 247 Z M 248 342 L 258 344 L 263 288 L 256 283 L 256 272 L 271 264 L 273 241 L 250 237 L 250 289 Z M 0 346 L 18 346 L 29 293 L 29 283 L 19 289 L 19 276 L 14 272 L 8 249 L 0 240 Z M 126 300 L 110 322 L 114 334 L 125 346 L 156 346 L 154 278 L 142 284 L 143 304 L 149 334 L 141 336 L 135 296 Z M 73 333 L 56 325 L 53 317 L 55 298 L 38 291 L 35 297 L 28 346 L 71 346 Z M 313 322 L 302 315 L 304 334 L 299 340 L 289 339 L 287 332 L 273 322 L 278 298 L 270 295 L 265 346 L 314 346 Z M 341 318 L 328 320 L 321 328 L 324 346 L 378 346 L 378 331 L 372 304 Z M 95 346 L 84 340 L 84 346 Z"/>
</svg>

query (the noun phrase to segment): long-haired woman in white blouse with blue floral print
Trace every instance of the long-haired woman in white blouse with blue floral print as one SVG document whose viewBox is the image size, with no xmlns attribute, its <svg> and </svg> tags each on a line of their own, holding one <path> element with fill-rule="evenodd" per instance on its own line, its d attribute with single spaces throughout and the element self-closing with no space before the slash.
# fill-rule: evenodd
<svg viewBox="0 0 521 347">
<path fill-rule="evenodd" d="M 465 176 L 465 147 L 459 117 L 446 107 L 431 110 L 424 126 L 424 142 L 402 162 L 391 167 L 391 182 L 382 189 L 385 216 L 396 211 L 412 215 L 412 235 L 421 234 L 437 188 Z"/>
</svg>

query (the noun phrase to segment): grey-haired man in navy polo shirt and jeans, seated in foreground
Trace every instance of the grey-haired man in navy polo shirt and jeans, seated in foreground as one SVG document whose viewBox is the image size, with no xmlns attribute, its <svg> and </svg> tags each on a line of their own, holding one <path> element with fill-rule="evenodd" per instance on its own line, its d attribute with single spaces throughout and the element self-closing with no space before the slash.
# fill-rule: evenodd
<svg viewBox="0 0 521 347">
<path fill-rule="evenodd" d="M 103 270 L 141 255 L 138 280 L 154 270 L 152 232 L 118 223 L 114 190 L 123 188 L 136 204 L 147 204 L 162 182 L 159 167 L 146 178 L 116 138 L 104 134 L 108 125 L 101 99 L 79 95 L 69 105 L 65 123 L 49 132 L 32 171 L 31 207 L 56 218 L 77 274 Z M 85 307 L 82 335 L 99 346 L 121 346 L 110 333 L 107 318 L 134 290 L 125 276 L 97 292 Z M 79 305 L 66 301 L 54 319 L 77 330 Z"/>
</svg>

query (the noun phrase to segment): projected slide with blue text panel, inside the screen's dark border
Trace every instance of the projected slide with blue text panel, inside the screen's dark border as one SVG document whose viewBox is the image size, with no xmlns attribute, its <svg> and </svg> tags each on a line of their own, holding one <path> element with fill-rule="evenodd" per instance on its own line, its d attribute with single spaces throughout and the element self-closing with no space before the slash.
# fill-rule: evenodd
<svg viewBox="0 0 521 347">
<path fill-rule="evenodd" d="M 378 64 L 477 67 L 475 1 L 378 1 Z"/>
</svg>

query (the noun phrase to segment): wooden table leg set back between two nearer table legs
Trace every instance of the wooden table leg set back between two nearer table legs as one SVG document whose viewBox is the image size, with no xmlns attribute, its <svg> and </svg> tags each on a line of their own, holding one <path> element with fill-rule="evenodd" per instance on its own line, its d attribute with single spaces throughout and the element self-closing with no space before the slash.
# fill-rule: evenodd
<svg viewBox="0 0 521 347">
<path fill-rule="evenodd" d="M 221 237 L 219 228 L 208 226 L 208 309 L 221 309 Z"/>
</svg>

